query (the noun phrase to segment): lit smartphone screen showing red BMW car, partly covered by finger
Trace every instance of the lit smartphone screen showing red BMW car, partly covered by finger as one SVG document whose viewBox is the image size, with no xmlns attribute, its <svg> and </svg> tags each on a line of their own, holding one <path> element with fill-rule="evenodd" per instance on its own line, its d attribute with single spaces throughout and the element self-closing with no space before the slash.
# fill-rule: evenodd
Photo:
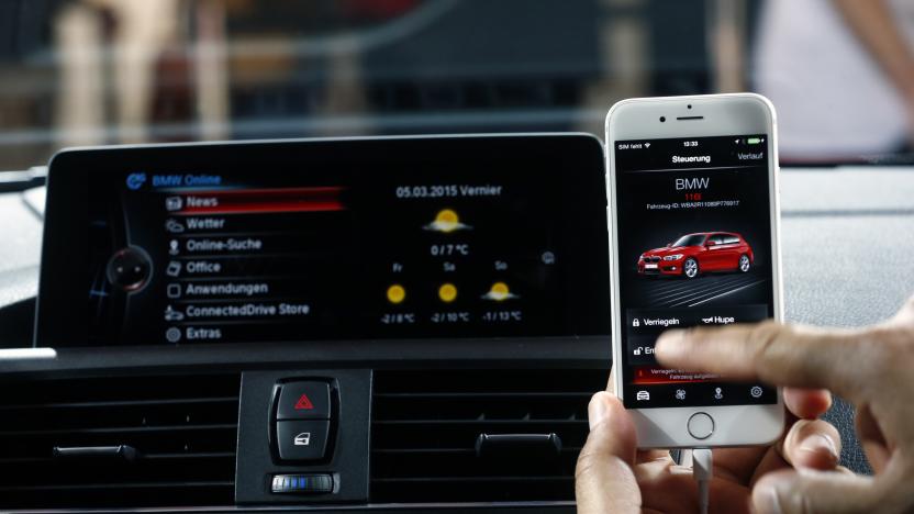
<svg viewBox="0 0 914 514">
<path fill-rule="evenodd" d="M 777 403 L 777 390 L 657 365 L 667 328 L 772 317 L 768 135 L 615 142 L 623 400 Z"/>
</svg>

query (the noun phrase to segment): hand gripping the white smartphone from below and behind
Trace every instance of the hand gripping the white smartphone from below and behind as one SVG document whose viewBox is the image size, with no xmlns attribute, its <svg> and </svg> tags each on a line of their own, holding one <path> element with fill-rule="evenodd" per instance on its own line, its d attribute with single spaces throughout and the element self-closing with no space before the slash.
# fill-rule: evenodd
<svg viewBox="0 0 914 514">
<path fill-rule="evenodd" d="M 578 512 L 698 512 L 691 468 L 676 465 L 665 450 L 636 450 L 635 426 L 612 383 L 588 407 L 591 431 L 575 473 Z M 831 394 L 787 388 L 784 403 L 790 428 L 774 446 L 714 450 L 711 512 L 748 512 L 751 487 L 768 472 L 791 465 L 835 469 L 840 437 L 834 426 L 815 420 L 831 406 Z"/>
</svg>

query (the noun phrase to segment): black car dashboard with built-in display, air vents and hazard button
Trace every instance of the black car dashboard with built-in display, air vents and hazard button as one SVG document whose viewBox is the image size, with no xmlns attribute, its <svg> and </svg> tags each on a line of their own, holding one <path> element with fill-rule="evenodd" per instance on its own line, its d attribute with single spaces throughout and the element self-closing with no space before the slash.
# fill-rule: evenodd
<svg viewBox="0 0 914 514">
<path fill-rule="evenodd" d="M 0 507 L 573 512 L 587 403 L 611 366 L 602 147 L 353 144 L 76 150 L 47 188 L 0 194 Z M 153 183 L 190 168 L 225 182 Z M 788 320 L 893 313 L 914 283 L 914 174 L 785 169 L 781 194 Z M 228 238 L 323 264 L 223 255 Z M 277 294 L 250 299 L 264 288 Z M 268 313 L 210 309 L 250 303 Z M 299 319 L 268 323 L 280 303 Z M 828 417 L 843 463 L 866 472 L 852 411 Z"/>
</svg>

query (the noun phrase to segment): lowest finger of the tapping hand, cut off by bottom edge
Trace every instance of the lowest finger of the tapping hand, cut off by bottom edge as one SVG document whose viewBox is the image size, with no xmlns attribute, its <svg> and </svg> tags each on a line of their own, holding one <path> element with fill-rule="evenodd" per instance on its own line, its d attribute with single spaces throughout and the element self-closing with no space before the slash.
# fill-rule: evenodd
<svg viewBox="0 0 914 514">
<path fill-rule="evenodd" d="M 761 514 L 859 513 L 874 511 L 880 500 L 872 477 L 812 470 L 770 473 L 758 481 L 751 499 Z"/>
</svg>

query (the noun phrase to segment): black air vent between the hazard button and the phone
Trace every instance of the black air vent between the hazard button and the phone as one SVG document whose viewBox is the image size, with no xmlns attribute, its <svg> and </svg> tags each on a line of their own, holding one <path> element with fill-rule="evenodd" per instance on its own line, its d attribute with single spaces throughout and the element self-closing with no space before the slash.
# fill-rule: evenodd
<svg viewBox="0 0 914 514">
<path fill-rule="evenodd" d="M 605 388 L 608 376 L 608 370 L 376 372 L 371 501 L 573 500 L 587 404 Z M 486 451 L 481 439 L 510 444 Z"/>
</svg>

